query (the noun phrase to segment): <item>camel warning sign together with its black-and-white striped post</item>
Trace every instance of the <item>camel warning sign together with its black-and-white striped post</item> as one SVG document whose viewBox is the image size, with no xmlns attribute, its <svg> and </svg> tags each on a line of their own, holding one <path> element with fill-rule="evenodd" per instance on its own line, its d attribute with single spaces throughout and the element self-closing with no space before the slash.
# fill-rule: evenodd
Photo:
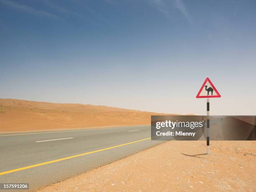
<svg viewBox="0 0 256 192">
<path fill-rule="evenodd" d="M 220 93 L 212 84 L 211 80 L 207 77 L 196 96 L 196 98 L 207 98 L 207 136 L 206 136 L 207 138 L 206 153 L 207 154 L 210 154 L 210 98 L 212 97 L 221 97 L 221 96 L 220 96 Z"/>
</svg>

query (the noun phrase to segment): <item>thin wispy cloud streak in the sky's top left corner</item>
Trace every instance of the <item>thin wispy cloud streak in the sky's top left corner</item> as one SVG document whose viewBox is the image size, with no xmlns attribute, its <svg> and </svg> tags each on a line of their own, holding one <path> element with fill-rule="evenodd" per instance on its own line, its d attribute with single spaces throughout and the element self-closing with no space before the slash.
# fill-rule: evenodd
<svg viewBox="0 0 256 192">
<path fill-rule="evenodd" d="M 16 9 L 16 10 L 20 10 L 26 13 L 30 13 L 33 15 L 37 15 L 40 17 L 44 17 L 44 18 L 49 18 L 49 19 L 60 19 L 58 16 L 52 14 L 52 13 L 48 13 L 46 11 L 42 11 L 42 10 L 37 10 L 35 8 L 29 7 L 27 5 L 21 5 L 18 3 L 15 3 L 13 1 L 9 1 L 9 0 L 0 0 L 0 3 L 4 4 L 5 6 L 8 6 L 10 8 Z"/>
</svg>

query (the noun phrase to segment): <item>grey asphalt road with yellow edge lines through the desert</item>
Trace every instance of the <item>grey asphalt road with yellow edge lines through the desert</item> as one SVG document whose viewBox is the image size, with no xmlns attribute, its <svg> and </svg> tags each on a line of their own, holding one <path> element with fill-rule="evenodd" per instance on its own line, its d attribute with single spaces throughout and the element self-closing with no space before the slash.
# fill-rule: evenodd
<svg viewBox="0 0 256 192">
<path fill-rule="evenodd" d="M 150 136 L 150 125 L 0 134 L 0 183 L 59 182 L 164 142 Z"/>
</svg>

